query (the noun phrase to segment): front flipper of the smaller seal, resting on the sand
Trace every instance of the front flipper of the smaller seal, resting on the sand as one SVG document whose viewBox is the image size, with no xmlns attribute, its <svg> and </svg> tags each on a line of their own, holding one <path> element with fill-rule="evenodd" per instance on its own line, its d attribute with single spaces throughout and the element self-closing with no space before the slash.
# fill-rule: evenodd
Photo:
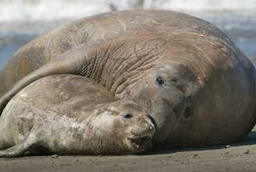
<svg viewBox="0 0 256 172">
<path fill-rule="evenodd" d="M 39 143 L 36 136 L 37 134 L 31 132 L 28 137 L 24 138 L 19 144 L 7 150 L 0 151 L 0 157 L 22 157 L 26 151 L 29 151 L 35 144 Z"/>
</svg>

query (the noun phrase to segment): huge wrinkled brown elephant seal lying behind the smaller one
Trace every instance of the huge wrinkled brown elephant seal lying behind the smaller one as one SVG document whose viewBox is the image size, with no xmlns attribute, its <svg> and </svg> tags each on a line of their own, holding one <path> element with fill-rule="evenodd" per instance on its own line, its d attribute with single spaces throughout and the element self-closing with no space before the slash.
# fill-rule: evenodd
<svg viewBox="0 0 256 172">
<path fill-rule="evenodd" d="M 28 83 L 90 77 L 153 116 L 154 144 L 205 146 L 243 138 L 256 120 L 255 69 L 209 22 L 166 10 L 94 15 L 18 50 L 0 74 L 6 103 Z"/>
</svg>

